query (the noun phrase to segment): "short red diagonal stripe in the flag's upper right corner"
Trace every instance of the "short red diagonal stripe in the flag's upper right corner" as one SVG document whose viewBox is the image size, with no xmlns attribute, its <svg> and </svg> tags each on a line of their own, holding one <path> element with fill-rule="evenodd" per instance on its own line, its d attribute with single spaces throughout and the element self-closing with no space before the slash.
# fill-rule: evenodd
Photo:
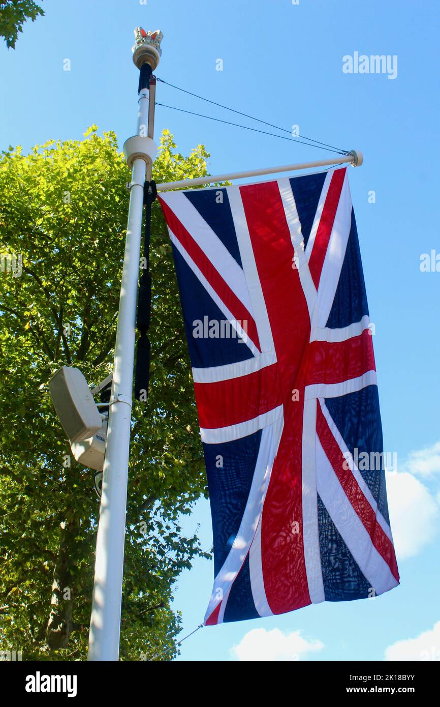
<svg viewBox="0 0 440 707">
<path fill-rule="evenodd" d="M 323 206 L 315 241 L 311 249 L 309 259 L 309 269 L 316 289 L 319 286 L 319 279 L 326 257 L 328 241 L 330 240 L 336 211 L 338 210 L 340 192 L 343 188 L 346 168 L 335 170 L 331 177 L 330 186 Z"/>
</svg>

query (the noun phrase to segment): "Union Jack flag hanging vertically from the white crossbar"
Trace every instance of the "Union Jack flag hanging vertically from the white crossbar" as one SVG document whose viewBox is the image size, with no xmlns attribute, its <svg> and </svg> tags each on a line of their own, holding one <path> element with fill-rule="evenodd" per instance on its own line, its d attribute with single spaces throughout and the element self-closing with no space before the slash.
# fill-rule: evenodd
<svg viewBox="0 0 440 707">
<path fill-rule="evenodd" d="M 384 469 L 354 462 L 383 443 L 346 169 L 160 203 L 213 518 L 205 624 L 396 587 Z"/>
</svg>

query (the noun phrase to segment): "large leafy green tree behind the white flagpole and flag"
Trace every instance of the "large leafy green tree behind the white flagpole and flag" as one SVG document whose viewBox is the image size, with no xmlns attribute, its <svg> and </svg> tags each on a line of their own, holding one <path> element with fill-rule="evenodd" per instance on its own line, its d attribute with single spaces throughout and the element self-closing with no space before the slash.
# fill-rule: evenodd
<svg viewBox="0 0 440 707">
<path fill-rule="evenodd" d="M 112 369 L 130 172 L 114 133 L 48 142 L 0 160 L 0 650 L 23 660 L 86 655 L 98 502 L 52 408 L 48 381 L 78 366 L 90 385 Z M 164 131 L 158 182 L 206 174 Z M 15 258 L 15 259 L 14 259 Z M 153 204 L 152 366 L 132 415 L 121 658 L 170 649 L 173 585 L 194 556 L 181 514 L 206 494 L 170 240 Z"/>
</svg>

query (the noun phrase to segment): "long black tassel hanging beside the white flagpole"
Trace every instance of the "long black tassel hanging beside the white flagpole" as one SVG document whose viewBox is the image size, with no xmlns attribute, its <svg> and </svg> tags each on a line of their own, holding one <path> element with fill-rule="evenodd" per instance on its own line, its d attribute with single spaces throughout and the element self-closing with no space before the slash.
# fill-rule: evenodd
<svg viewBox="0 0 440 707">
<path fill-rule="evenodd" d="M 136 375 L 134 382 L 134 397 L 145 402 L 148 398 L 148 382 L 150 379 L 150 341 L 147 336 L 150 328 L 151 312 L 151 274 L 150 274 L 150 237 L 151 237 L 151 206 L 157 197 L 156 184 L 153 180 L 145 182 L 143 203 L 145 204 L 145 231 L 143 236 L 144 269 L 139 282 L 138 314 L 136 327 L 141 333 L 136 346 Z"/>
</svg>

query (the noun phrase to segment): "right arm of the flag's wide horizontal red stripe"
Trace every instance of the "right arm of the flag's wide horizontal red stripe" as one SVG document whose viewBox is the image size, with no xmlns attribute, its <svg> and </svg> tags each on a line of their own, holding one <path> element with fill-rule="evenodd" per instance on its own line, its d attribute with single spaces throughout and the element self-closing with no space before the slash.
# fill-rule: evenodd
<svg viewBox="0 0 440 707">
<path fill-rule="evenodd" d="M 340 383 L 376 370 L 370 329 L 346 341 L 311 341 L 307 354 L 306 385 Z"/>
</svg>

